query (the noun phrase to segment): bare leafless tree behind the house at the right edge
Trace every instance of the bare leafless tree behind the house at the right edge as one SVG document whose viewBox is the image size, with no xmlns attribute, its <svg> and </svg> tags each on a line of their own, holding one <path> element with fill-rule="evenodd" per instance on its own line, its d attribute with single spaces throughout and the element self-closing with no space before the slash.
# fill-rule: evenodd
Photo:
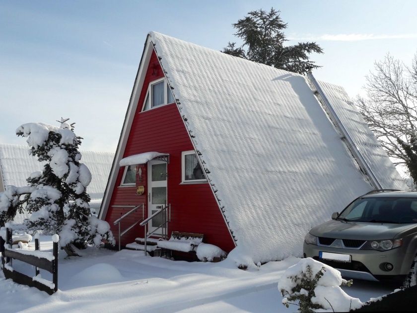
<svg viewBox="0 0 417 313">
<path fill-rule="evenodd" d="M 366 81 L 366 98 L 355 104 L 394 164 L 411 171 L 417 150 L 404 148 L 417 145 L 417 54 L 411 67 L 387 54 Z"/>
</svg>

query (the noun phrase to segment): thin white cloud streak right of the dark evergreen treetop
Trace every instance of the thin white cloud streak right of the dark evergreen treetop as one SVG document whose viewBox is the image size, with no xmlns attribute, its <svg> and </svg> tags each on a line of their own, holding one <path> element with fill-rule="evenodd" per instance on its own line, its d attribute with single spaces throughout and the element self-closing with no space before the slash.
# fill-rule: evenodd
<svg viewBox="0 0 417 313">
<path fill-rule="evenodd" d="M 378 39 L 413 39 L 417 38 L 417 33 L 411 34 L 323 34 L 323 35 L 290 35 L 288 40 L 308 40 L 308 41 L 360 41 Z"/>
</svg>

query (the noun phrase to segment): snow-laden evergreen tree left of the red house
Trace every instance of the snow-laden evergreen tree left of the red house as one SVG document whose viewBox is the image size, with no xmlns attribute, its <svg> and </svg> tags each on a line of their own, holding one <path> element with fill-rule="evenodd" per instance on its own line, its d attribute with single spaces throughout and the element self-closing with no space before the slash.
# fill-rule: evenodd
<svg viewBox="0 0 417 313">
<path fill-rule="evenodd" d="M 67 121 L 62 119 L 61 127 L 28 123 L 17 128 L 17 136 L 27 137 L 30 154 L 47 163 L 42 172 L 30 175 L 28 187 L 11 186 L 0 194 L 0 222 L 13 219 L 25 203 L 25 209 L 32 213 L 28 228 L 59 234 L 60 245 L 67 252 L 73 251 L 71 245 L 84 248 L 102 240 L 114 244 L 109 224 L 91 215 L 87 193 L 91 173 L 80 162 L 82 138 Z"/>
</svg>

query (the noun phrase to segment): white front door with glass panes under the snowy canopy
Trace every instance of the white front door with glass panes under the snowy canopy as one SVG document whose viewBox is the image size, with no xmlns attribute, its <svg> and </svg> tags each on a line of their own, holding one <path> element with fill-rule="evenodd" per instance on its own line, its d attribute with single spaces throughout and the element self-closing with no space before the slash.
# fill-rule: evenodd
<svg viewBox="0 0 417 313">
<path fill-rule="evenodd" d="M 167 172 L 166 162 L 151 160 L 148 162 L 148 216 L 151 216 L 166 205 L 167 198 Z M 149 223 L 149 233 L 163 223 L 163 215 L 158 214 Z M 159 229 L 155 234 L 161 234 Z"/>
</svg>

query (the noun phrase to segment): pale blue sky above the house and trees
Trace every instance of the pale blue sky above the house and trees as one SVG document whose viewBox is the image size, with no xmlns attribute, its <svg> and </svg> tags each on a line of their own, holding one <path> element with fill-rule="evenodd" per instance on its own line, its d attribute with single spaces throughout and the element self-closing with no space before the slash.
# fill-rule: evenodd
<svg viewBox="0 0 417 313">
<path fill-rule="evenodd" d="M 361 92 L 375 60 L 417 52 L 417 1 L 0 0 L 0 142 L 24 144 L 23 123 L 70 117 L 83 150 L 113 152 L 153 30 L 220 50 L 232 23 L 273 6 L 288 44 L 317 41 L 316 78 Z"/>
</svg>

